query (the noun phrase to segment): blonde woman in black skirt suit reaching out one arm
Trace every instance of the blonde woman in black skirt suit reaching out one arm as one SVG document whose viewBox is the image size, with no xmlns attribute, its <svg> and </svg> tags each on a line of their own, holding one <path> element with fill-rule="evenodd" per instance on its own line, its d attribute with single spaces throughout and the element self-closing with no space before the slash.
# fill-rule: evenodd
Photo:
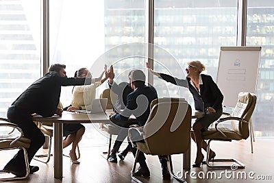
<svg viewBox="0 0 274 183">
<path fill-rule="evenodd" d="M 203 140 L 202 132 L 208 130 L 209 125 L 221 117 L 223 113 L 223 94 L 210 75 L 201 74 L 206 69 L 206 66 L 198 60 L 188 62 L 187 64 L 186 80 L 178 79 L 164 73 L 157 73 L 149 68 L 148 63 L 147 68 L 153 75 L 160 77 L 166 82 L 187 87 L 193 96 L 195 110 L 206 113 L 204 117 L 197 119 L 192 126 L 194 136 L 191 137 L 197 145 L 196 160 L 192 167 L 200 167 L 203 161 L 201 149 L 203 148 L 206 151 L 206 141 Z M 210 159 L 213 159 L 215 156 L 214 151 L 210 149 Z"/>
</svg>

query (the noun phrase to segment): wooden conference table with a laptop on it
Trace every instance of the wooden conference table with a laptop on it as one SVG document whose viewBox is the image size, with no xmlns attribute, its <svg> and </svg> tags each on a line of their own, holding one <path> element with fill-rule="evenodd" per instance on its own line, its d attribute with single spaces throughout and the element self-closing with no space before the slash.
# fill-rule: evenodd
<svg viewBox="0 0 274 183">
<path fill-rule="evenodd" d="M 86 114 L 82 112 L 67 112 L 62 113 L 62 117 L 42 117 L 34 115 L 34 121 L 51 122 L 53 125 L 54 136 L 54 178 L 63 177 L 63 123 L 112 123 L 109 120 L 109 115 L 112 110 L 107 110 L 105 113 Z M 203 112 L 192 111 L 192 119 L 203 117 Z M 190 156 L 191 148 L 188 149 L 186 154 L 183 154 L 183 168 L 190 169 Z"/>
</svg>

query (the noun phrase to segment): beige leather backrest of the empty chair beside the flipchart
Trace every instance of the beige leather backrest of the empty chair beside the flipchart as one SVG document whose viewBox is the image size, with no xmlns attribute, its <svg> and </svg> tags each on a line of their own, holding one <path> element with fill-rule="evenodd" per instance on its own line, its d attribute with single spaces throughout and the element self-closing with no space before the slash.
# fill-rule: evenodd
<svg viewBox="0 0 274 183">
<path fill-rule="evenodd" d="M 238 94 L 238 102 L 231 114 L 232 117 L 240 117 L 249 121 L 256 106 L 257 97 L 253 93 L 240 92 Z M 249 137 L 249 123 L 232 121 L 232 129 L 240 133 L 242 138 Z"/>
</svg>

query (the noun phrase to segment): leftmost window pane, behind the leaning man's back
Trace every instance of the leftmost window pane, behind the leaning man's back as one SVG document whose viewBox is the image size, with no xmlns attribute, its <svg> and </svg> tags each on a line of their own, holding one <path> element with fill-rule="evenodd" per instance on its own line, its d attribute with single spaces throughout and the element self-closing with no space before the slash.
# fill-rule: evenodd
<svg viewBox="0 0 274 183">
<path fill-rule="evenodd" d="M 0 1 L 0 117 L 40 77 L 40 1 Z"/>
</svg>

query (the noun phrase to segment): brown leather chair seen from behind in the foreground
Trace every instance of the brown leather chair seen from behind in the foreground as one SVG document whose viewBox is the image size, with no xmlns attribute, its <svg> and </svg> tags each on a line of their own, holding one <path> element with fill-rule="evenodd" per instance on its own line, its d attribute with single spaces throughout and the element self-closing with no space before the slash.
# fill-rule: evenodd
<svg viewBox="0 0 274 183">
<path fill-rule="evenodd" d="M 184 99 L 163 98 L 151 102 L 149 118 L 143 128 L 134 125 L 129 128 L 129 139 L 137 148 L 132 179 L 140 182 L 134 175 L 140 151 L 151 155 L 168 155 L 171 175 L 185 182 L 173 173 L 172 154 L 184 154 L 190 144 L 191 107 Z M 140 134 L 145 140 L 134 142 L 134 134 Z M 140 140 L 140 139 L 139 139 Z"/>
</svg>

